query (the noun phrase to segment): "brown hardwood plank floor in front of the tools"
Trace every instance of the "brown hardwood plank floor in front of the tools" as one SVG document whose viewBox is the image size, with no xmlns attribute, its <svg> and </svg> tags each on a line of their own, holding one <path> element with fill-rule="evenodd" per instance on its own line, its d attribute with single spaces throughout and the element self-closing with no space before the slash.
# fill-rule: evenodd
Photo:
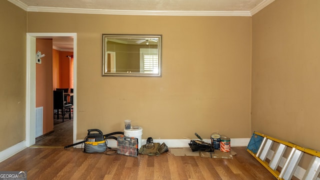
<svg viewBox="0 0 320 180">
<path fill-rule="evenodd" d="M 233 159 L 84 153 L 80 148 L 28 147 L 0 163 L 0 170 L 24 170 L 28 179 L 275 179 L 245 147 Z M 109 153 L 111 151 L 108 151 Z"/>
</svg>

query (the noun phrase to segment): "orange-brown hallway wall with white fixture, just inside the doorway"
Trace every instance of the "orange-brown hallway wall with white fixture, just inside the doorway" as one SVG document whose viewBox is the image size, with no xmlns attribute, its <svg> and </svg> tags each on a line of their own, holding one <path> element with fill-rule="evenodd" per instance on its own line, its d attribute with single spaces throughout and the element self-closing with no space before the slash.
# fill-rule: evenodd
<svg viewBox="0 0 320 180">
<path fill-rule="evenodd" d="M 43 134 L 53 129 L 52 111 L 52 39 L 36 39 L 36 51 L 45 54 L 36 63 L 35 106 L 43 106 Z"/>
</svg>

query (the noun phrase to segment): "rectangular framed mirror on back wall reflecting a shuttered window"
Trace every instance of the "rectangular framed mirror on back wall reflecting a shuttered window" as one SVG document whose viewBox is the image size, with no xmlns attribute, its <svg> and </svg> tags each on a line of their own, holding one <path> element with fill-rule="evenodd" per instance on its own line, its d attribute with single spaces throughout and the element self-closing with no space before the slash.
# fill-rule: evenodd
<svg viewBox="0 0 320 180">
<path fill-rule="evenodd" d="M 102 34 L 102 76 L 161 76 L 161 35 Z"/>
</svg>

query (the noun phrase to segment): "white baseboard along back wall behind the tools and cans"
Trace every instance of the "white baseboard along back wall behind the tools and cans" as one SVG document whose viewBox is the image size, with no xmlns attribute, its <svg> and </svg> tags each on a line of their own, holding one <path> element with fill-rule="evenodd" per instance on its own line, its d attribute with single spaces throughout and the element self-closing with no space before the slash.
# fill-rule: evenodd
<svg viewBox="0 0 320 180">
<path fill-rule="evenodd" d="M 83 140 L 83 139 L 82 139 Z M 76 142 L 80 142 L 82 140 L 76 140 Z M 108 141 L 108 147 L 116 147 L 116 140 L 114 139 L 107 139 Z M 203 139 L 203 141 L 211 143 L 210 139 Z M 250 141 L 250 138 L 231 138 L 230 139 L 230 146 L 236 147 L 236 146 L 247 146 Z M 168 147 L 189 147 L 188 143 L 190 140 L 188 139 L 153 139 L 153 142 L 164 142 Z M 141 140 L 142 144 L 146 143 L 146 139 Z M 81 144 L 78 144 L 75 146 L 76 148 L 83 148 L 84 146 Z"/>
</svg>

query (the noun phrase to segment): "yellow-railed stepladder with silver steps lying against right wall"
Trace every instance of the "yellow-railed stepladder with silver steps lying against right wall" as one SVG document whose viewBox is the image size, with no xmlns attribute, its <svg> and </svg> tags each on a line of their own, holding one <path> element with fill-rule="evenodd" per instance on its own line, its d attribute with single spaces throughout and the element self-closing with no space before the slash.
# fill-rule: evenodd
<svg viewBox="0 0 320 180">
<path fill-rule="evenodd" d="M 271 147 L 275 148 L 274 153 L 270 159 L 266 160 Z M 291 147 L 291 150 L 289 149 L 289 155 L 286 157 L 281 170 L 278 171 L 279 162 L 287 147 Z M 259 132 L 253 132 L 246 150 L 277 179 L 291 179 L 303 153 L 310 154 L 312 159 L 301 179 L 316 179 L 320 172 L 320 152 L 298 146 L 291 142 L 279 140 Z"/>
</svg>

